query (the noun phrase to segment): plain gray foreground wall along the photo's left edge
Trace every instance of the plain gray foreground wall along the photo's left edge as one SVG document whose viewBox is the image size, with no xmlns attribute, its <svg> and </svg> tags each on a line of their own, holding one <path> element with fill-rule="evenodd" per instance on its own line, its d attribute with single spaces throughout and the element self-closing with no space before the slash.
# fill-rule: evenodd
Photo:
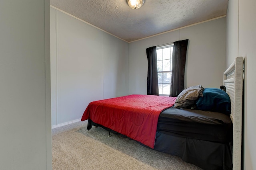
<svg viewBox="0 0 256 170">
<path fill-rule="evenodd" d="M 0 169 L 50 170 L 50 2 L 0 1 Z"/>
</svg>

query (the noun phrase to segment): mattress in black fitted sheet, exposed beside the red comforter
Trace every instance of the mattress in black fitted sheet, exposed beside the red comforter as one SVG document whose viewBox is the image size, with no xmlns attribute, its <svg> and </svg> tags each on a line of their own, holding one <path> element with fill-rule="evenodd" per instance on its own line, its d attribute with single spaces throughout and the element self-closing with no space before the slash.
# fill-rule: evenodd
<svg viewBox="0 0 256 170">
<path fill-rule="evenodd" d="M 232 141 L 230 116 L 212 111 L 170 107 L 159 115 L 157 131 L 218 143 Z"/>
</svg>

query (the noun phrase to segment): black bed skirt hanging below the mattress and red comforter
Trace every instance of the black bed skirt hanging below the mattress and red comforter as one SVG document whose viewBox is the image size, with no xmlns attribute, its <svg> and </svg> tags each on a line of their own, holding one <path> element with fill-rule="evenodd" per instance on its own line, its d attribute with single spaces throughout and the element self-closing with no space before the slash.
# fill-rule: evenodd
<svg viewBox="0 0 256 170">
<path fill-rule="evenodd" d="M 90 130 L 92 126 L 102 127 L 111 133 L 126 137 L 89 119 L 87 129 Z M 140 142 L 138 143 L 143 145 Z M 147 148 L 151 149 L 150 147 Z M 194 164 L 204 170 L 232 170 L 233 167 L 231 142 L 216 143 L 172 136 L 157 131 L 154 150 L 179 156 L 185 162 Z"/>
</svg>

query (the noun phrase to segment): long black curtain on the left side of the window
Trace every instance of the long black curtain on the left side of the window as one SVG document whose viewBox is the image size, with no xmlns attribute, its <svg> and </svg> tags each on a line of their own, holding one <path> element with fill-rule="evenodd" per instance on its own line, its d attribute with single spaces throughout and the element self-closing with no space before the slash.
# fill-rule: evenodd
<svg viewBox="0 0 256 170">
<path fill-rule="evenodd" d="M 156 46 L 146 49 L 148 58 L 147 94 L 159 96 Z"/>
</svg>

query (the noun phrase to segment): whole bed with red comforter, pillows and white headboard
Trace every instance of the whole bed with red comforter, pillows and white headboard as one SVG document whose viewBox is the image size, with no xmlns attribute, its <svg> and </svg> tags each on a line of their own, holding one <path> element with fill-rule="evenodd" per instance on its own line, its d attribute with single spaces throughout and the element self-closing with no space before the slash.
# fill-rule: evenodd
<svg viewBox="0 0 256 170">
<path fill-rule="evenodd" d="M 81 120 L 88 119 L 88 130 L 92 126 L 103 127 L 145 147 L 180 156 L 205 170 L 238 170 L 241 169 L 243 57 L 237 57 L 224 72 L 221 88 L 224 89 L 193 86 L 184 89 L 177 98 L 128 95 L 94 101 Z M 192 98 L 189 95 L 190 100 L 184 100 L 192 92 Z M 228 96 L 225 99 L 229 103 L 221 98 L 221 102 L 212 105 L 215 97 L 208 95 L 216 92 Z M 186 103 L 189 108 L 180 106 L 184 101 L 189 101 Z"/>
</svg>

